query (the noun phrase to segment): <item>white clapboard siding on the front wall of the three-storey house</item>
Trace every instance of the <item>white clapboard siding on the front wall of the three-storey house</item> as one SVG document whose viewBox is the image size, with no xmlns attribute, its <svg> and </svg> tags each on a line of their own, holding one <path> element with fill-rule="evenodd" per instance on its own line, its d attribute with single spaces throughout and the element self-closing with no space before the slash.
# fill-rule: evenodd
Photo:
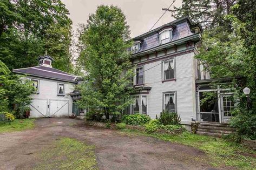
<svg viewBox="0 0 256 170">
<path fill-rule="evenodd" d="M 177 111 L 182 121 L 191 121 L 195 117 L 195 69 L 194 52 L 175 57 L 176 81 L 162 83 L 162 60 L 144 65 L 145 86 L 152 89 L 147 94 L 148 114 L 155 118 L 163 109 L 162 93 L 176 91 Z"/>
</svg>

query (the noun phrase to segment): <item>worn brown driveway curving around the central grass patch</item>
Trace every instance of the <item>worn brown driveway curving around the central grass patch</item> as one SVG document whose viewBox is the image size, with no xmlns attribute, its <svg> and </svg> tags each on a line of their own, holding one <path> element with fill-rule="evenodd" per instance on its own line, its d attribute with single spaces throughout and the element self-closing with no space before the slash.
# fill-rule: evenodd
<svg viewBox="0 0 256 170">
<path fill-rule="evenodd" d="M 35 153 L 60 137 L 95 145 L 100 169 L 214 169 L 196 148 L 86 126 L 70 118 L 40 118 L 34 130 L 0 133 L 0 169 L 32 169 L 40 161 Z"/>
</svg>

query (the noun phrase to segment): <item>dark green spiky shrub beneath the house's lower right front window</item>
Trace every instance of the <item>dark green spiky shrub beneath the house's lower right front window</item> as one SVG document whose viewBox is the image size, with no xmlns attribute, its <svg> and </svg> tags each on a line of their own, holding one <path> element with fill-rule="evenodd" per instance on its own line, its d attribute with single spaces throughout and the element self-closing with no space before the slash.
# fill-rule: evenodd
<svg viewBox="0 0 256 170">
<path fill-rule="evenodd" d="M 160 113 L 160 117 L 158 120 L 163 125 L 177 125 L 181 121 L 180 116 L 177 113 L 169 112 L 166 110 L 163 110 Z"/>
</svg>

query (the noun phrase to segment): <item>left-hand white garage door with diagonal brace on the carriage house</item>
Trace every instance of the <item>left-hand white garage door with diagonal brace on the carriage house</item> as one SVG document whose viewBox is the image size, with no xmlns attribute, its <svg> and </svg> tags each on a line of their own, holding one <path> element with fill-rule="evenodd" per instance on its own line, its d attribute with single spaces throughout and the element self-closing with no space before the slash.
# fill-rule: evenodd
<svg viewBox="0 0 256 170">
<path fill-rule="evenodd" d="M 30 104 L 30 117 L 39 118 L 39 117 L 48 117 L 47 114 L 47 99 L 34 99 Z"/>
</svg>

